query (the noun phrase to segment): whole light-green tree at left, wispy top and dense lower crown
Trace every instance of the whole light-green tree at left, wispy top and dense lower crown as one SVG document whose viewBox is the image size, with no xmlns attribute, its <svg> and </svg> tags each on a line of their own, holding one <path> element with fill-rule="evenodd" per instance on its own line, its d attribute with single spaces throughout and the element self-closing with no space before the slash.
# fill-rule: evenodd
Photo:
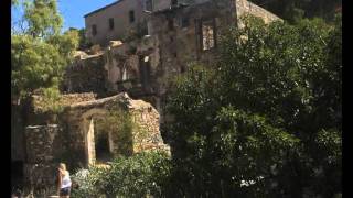
<svg viewBox="0 0 353 198">
<path fill-rule="evenodd" d="M 54 0 L 24 2 L 23 32 L 11 35 L 11 96 L 25 98 L 38 88 L 56 88 L 72 52 L 78 45 L 78 33 L 60 34 L 61 16 Z"/>
</svg>

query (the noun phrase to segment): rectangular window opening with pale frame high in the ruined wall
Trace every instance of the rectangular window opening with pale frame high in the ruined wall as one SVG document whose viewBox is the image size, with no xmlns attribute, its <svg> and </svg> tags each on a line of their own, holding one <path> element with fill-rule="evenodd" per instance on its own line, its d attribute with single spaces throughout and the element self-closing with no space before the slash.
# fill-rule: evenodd
<svg viewBox="0 0 353 198">
<path fill-rule="evenodd" d="M 202 28 L 202 50 L 207 51 L 214 48 L 216 45 L 215 35 L 215 21 L 203 21 Z"/>
</svg>

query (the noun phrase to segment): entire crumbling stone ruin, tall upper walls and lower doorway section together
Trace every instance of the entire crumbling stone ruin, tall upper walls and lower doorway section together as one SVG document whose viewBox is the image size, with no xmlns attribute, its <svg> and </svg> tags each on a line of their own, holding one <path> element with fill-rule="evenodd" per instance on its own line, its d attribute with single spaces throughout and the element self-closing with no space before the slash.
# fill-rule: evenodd
<svg viewBox="0 0 353 198">
<path fill-rule="evenodd" d="M 141 38 L 111 41 L 105 48 L 76 52 L 61 86 L 63 112 L 41 112 L 42 99 L 33 96 L 24 133 L 19 127 L 23 121 L 18 118 L 11 133 L 15 144 L 11 157 L 24 163 L 28 183 L 53 184 L 58 162 L 69 162 L 68 168 L 96 164 L 99 141 L 95 136 L 101 131 L 97 123 L 118 109 L 129 112 L 146 133 L 141 136 L 139 130 L 132 130 L 128 146 L 121 150 L 119 135 L 105 132 L 106 153 L 169 151 L 160 124 L 168 121 L 164 105 L 170 79 L 184 73 L 188 63 L 212 63 L 220 32 L 229 24 L 242 28 L 242 15 L 260 16 L 266 23 L 280 20 L 246 0 L 197 2 L 152 12 L 148 35 Z"/>
</svg>

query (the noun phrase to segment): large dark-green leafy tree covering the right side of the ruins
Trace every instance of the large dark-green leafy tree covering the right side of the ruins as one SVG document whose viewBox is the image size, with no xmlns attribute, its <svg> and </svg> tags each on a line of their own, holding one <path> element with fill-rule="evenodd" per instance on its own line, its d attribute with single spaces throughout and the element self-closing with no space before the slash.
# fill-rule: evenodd
<svg viewBox="0 0 353 198">
<path fill-rule="evenodd" d="M 244 20 L 223 33 L 213 72 L 194 66 L 175 82 L 164 129 L 171 178 L 186 197 L 332 197 L 341 191 L 340 19 Z"/>
</svg>

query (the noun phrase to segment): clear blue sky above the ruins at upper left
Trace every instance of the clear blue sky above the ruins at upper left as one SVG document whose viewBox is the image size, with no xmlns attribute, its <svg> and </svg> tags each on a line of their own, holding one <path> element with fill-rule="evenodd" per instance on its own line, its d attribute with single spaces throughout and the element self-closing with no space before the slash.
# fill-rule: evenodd
<svg viewBox="0 0 353 198">
<path fill-rule="evenodd" d="M 84 28 L 85 14 L 115 1 L 117 0 L 57 0 L 60 13 L 64 19 L 63 31 L 68 28 Z M 12 9 L 12 19 L 19 19 L 22 12 L 21 8 Z"/>
</svg>

